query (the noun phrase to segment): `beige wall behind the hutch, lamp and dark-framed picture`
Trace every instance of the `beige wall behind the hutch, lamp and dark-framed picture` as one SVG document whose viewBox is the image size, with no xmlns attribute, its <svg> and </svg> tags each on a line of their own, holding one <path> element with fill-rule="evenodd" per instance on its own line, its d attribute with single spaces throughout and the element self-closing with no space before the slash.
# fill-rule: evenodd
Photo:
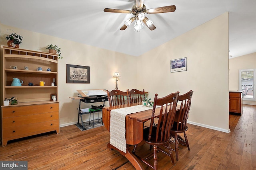
<svg viewBox="0 0 256 170">
<path fill-rule="evenodd" d="M 61 48 L 63 59 L 58 64 L 58 101 L 60 101 L 60 126 L 72 125 L 77 122 L 79 100 L 72 100 L 69 96 L 77 96 L 76 90 L 85 89 L 108 89 L 116 87 L 114 72 L 120 73 L 118 89 L 126 91 L 127 88 L 136 88 L 137 71 L 129 69 L 128 66 L 137 62 L 137 57 L 108 51 L 74 41 L 68 41 L 41 33 L 36 33 L 24 29 L 1 25 L 1 46 L 7 45 L 5 39 L 6 29 L 16 31 L 23 38 L 20 44 L 21 49 L 35 51 L 45 51 L 47 45 L 54 44 Z M 66 84 L 66 64 L 90 66 L 90 84 Z M 130 81 L 133 80 L 133 81 Z M 98 106 L 103 103 L 93 103 Z M 108 106 L 108 102 L 106 102 Z M 82 107 L 91 107 L 91 104 L 82 104 Z M 88 120 L 89 115 L 83 115 L 83 119 Z"/>
</svg>

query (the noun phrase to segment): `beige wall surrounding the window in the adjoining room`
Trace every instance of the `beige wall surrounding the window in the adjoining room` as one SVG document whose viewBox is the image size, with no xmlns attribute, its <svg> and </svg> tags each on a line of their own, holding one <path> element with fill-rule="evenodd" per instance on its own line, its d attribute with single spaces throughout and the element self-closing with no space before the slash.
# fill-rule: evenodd
<svg viewBox="0 0 256 170">
<path fill-rule="evenodd" d="M 239 70 L 256 68 L 256 53 L 229 59 L 229 90 L 239 90 Z M 256 101 L 243 100 L 243 104 L 256 105 Z"/>
</svg>

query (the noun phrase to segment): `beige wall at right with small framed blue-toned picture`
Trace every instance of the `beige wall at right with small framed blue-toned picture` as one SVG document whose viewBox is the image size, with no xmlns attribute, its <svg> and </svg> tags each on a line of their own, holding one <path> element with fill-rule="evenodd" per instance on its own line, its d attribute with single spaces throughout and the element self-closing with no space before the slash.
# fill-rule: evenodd
<svg viewBox="0 0 256 170">
<path fill-rule="evenodd" d="M 187 58 L 187 71 L 170 72 L 170 60 Z M 228 132 L 228 13 L 148 51 L 138 58 L 149 74 L 138 74 L 138 87 L 154 98 L 193 90 L 188 121 Z M 138 69 L 140 66 L 138 66 Z"/>
</svg>

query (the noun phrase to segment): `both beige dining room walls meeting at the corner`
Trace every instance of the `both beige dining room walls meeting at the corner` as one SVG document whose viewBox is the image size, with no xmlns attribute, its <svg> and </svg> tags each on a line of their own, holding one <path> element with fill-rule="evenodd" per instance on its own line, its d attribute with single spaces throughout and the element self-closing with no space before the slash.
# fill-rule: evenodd
<svg viewBox="0 0 256 170">
<path fill-rule="evenodd" d="M 225 132 L 229 130 L 228 13 L 140 57 L 6 25 L 1 25 L 1 45 L 6 45 L 7 41 L 4 38 L 7 28 L 24 37 L 20 45 L 22 49 L 46 51 L 46 45 L 50 44 L 56 44 L 62 49 L 64 58 L 59 60 L 58 68 L 61 126 L 71 125 L 77 121 L 78 101 L 71 100 L 69 96 L 76 96 L 77 89 L 114 89 L 115 79 L 112 76 L 118 71 L 121 75 L 118 87 L 123 91 L 127 88 L 144 88 L 149 92 L 148 96 L 154 98 L 155 93 L 163 97 L 171 92 L 180 91 L 180 94 L 183 94 L 194 90 L 190 123 Z M 182 57 L 187 57 L 188 70 L 170 73 L 170 60 Z M 138 72 L 128 67 L 134 63 L 138 63 Z M 90 84 L 66 84 L 66 64 L 90 66 Z"/>
</svg>

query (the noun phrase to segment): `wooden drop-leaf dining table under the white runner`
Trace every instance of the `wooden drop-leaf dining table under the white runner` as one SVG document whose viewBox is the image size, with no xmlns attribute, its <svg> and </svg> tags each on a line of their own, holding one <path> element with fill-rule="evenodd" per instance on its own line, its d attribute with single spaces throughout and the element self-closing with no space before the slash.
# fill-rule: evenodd
<svg viewBox="0 0 256 170">
<path fill-rule="evenodd" d="M 136 105 L 142 105 L 142 103 L 134 103 L 134 104 L 124 104 L 118 106 L 110 106 L 103 107 L 102 110 L 102 120 L 108 131 L 110 131 L 110 112 L 112 109 L 120 109 L 124 107 L 131 107 Z M 176 107 L 176 111 L 180 109 L 180 107 Z M 159 116 L 160 107 L 156 108 L 155 117 Z M 137 113 L 131 113 L 126 115 L 125 117 L 125 128 L 126 128 L 126 153 L 114 147 L 110 143 L 108 143 L 107 147 L 109 149 L 115 149 L 120 152 L 123 156 L 125 156 L 132 165 L 136 168 L 136 170 L 144 170 L 141 161 L 132 153 L 130 150 L 130 145 L 136 145 L 143 141 L 143 128 L 144 123 L 151 119 L 152 109 L 146 111 L 140 111 Z"/>
</svg>

